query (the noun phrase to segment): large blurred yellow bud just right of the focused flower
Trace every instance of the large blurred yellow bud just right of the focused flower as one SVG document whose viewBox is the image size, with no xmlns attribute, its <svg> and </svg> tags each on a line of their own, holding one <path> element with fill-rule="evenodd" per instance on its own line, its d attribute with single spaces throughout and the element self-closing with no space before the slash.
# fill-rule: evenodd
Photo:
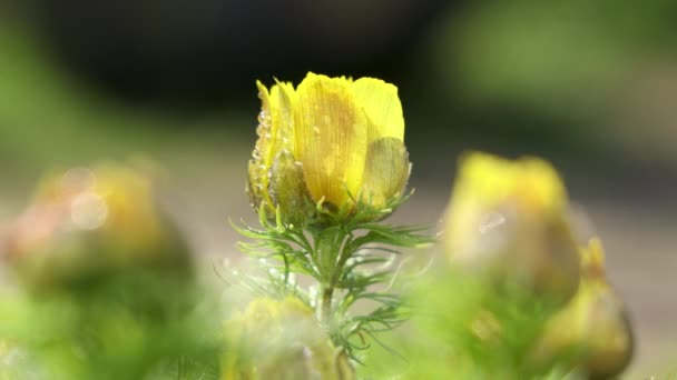
<svg viewBox="0 0 677 380">
<path fill-rule="evenodd" d="M 579 276 L 567 207 L 562 181 L 548 162 L 470 153 L 461 160 L 443 241 L 455 264 L 566 300 Z"/>
</svg>

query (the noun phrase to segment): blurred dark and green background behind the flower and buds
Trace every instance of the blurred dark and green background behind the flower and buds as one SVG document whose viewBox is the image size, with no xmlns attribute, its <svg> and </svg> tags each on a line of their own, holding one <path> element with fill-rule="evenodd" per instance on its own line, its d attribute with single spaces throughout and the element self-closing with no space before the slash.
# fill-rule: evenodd
<svg viewBox="0 0 677 380">
<path fill-rule="evenodd" d="M 635 322 L 627 378 L 675 369 L 671 0 L 4 0 L 0 224 L 46 171 L 131 160 L 197 251 L 235 257 L 254 82 L 308 70 L 398 84 L 418 189 L 398 220 L 440 218 L 463 150 L 551 160 Z"/>
</svg>

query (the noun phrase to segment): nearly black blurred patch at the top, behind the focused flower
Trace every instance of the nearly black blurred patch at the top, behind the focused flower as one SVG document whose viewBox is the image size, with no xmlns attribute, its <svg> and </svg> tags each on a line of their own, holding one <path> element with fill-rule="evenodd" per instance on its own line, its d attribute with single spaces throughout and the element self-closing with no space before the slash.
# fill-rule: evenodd
<svg viewBox="0 0 677 380">
<path fill-rule="evenodd" d="M 153 98 L 204 99 L 255 78 L 357 76 L 418 40 L 447 0 L 35 0 L 71 68 Z M 392 64 L 379 64 L 392 68 Z"/>
</svg>

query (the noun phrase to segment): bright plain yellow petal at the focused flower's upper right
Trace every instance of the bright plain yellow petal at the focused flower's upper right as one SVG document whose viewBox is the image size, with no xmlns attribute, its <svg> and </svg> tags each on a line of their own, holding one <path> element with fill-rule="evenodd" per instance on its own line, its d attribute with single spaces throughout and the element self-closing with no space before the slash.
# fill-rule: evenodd
<svg viewBox="0 0 677 380">
<path fill-rule="evenodd" d="M 398 88 L 380 79 L 361 78 L 353 83 L 355 101 L 370 120 L 370 141 L 404 140 L 404 118 Z"/>
</svg>

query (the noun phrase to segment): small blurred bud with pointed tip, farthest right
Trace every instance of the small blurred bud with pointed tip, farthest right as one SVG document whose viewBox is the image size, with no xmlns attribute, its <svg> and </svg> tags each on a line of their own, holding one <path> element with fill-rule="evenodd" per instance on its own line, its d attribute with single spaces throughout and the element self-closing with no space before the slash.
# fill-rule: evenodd
<svg viewBox="0 0 677 380">
<path fill-rule="evenodd" d="M 612 379 L 632 356 L 632 331 L 622 302 L 607 282 L 598 239 L 581 250 L 580 287 L 546 326 L 534 348 L 540 364 L 577 353 L 575 364 L 592 379 Z"/>
</svg>

